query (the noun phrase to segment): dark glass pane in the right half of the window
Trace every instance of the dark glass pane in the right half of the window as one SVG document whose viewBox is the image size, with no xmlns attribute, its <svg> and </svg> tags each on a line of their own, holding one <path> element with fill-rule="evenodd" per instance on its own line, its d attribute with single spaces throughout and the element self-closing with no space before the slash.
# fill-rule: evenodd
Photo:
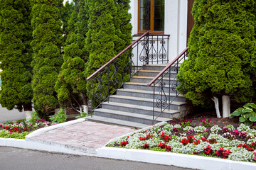
<svg viewBox="0 0 256 170">
<path fill-rule="evenodd" d="M 154 0 L 154 31 L 164 30 L 164 0 Z"/>
</svg>

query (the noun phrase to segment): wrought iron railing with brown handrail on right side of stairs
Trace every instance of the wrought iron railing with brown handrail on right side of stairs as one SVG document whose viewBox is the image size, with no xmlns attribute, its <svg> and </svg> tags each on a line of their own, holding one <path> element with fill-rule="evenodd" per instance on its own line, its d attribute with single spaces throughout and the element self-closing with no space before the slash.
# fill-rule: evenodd
<svg viewBox="0 0 256 170">
<path fill-rule="evenodd" d="M 176 75 L 181 62 L 186 60 L 188 55 L 188 47 L 181 52 L 171 63 L 169 63 L 157 76 L 152 79 L 148 86 L 154 84 L 154 102 L 153 102 L 153 119 L 154 121 L 166 110 L 170 110 L 171 103 L 178 97 L 179 93 L 176 90 L 178 81 Z M 155 115 L 155 108 L 159 108 L 158 115 Z"/>
</svg>

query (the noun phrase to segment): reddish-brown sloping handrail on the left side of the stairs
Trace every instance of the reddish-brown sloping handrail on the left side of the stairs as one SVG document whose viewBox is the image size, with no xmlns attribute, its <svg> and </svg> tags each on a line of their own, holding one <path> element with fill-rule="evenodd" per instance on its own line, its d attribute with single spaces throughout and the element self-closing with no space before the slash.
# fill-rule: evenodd
<svg viewBox="0 0 256 170">
<path fill-rule="evenodd" d="M 144 33 L 142 36 L 140 36 L 137 40 L 135 40 L 134 42 L 132 42 L 132 44 L 130 44 L 128 47 L 126 47 L 124 50 L 122 50 L 122 52 L 119 52 L 118 55 L 116 55 L 115 57 L 112 58 L 112 60 L 110 60 L 109 62 L 107 62 L 106 64 L 104 64 L 102 67 L 100 67 L 100 69 L 97 69 L 96 72 L 94 72 L 93 74 L 90 75 L 90 77 L 87 77 L 86 81 L 89 81 L 90 79 L 92 79 L 92 77 L 95 77 L 96 74 L 98 74 L 99 72 L 102 71 L 102 69 L 105 69 L 105 67 L 107 67 L 110 63 L 112 63 L 114 60 L 116 60 L 120 55 L 122 55 L 124 52 L 126 52 L 130 47 L 132 47 L 135 43 L 137 43 L 139 40 L 141 40 L 142 38 L 144 38 L 144 36 L 146 36 L 147 34 L 149 34 L 149 31 L 146 31 L 146 33 Z"/>
</svg>

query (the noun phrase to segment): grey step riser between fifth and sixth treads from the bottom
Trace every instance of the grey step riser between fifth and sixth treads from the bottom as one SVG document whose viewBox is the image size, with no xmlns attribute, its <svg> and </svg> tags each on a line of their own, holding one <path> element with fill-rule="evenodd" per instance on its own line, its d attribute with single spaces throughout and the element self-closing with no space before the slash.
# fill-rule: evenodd
<svg viewBox="0 0 256 170">
<path fill-rule="evenodd" d="M 124 89 L 134 89 L 134 90 L 144 90 L 144 91 L 154 91 L 154 87 L 153 86 L 141 86 L 141 85 L 134 85 L 134 84 L 124 84 Z M 161 87 L 156 86 L 155 87 L 155 94 L 158 94 L 159 91 L 161 90 Z M 173 91 L 172 89 L 169 89 L 167 87 L 164 87 L 164 93 L 176 93 L 176 91 Z"/>
</svg>

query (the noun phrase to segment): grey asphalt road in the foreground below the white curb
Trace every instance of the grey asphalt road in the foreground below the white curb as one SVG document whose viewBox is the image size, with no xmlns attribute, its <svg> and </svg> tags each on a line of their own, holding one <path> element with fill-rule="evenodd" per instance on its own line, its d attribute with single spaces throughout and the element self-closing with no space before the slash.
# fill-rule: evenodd
<svg viewBox="0 0 256 170">
<path fill-rule="evenodd" d="M 128 162 L 115 159 L 39 152 L 13 147 L 0 147 L 0 169 L 3 170 L 186 170 L 175 166 Z"/>
</svg>

